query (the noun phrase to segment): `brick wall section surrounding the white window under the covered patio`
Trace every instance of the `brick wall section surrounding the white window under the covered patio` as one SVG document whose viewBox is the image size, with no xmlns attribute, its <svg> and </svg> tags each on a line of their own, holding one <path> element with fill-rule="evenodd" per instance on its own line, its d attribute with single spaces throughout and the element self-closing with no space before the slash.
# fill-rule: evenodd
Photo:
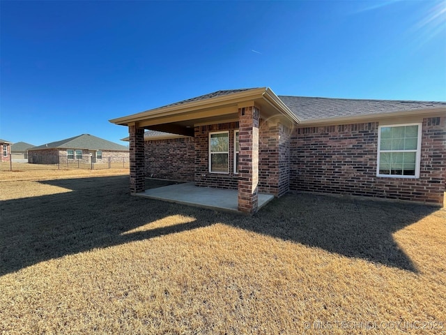
<svg viewBox="0 0 446 335">
<path fill-rule="evenodd" d="M 237 189 L 238 174 L 233 173 L 235 130 L 238 130 L 238 122 L 195 127 L 195 185 Z M 229 174 L 209 172 L 209 133 L 215 131 L 229 131 Z"/>
</svg>

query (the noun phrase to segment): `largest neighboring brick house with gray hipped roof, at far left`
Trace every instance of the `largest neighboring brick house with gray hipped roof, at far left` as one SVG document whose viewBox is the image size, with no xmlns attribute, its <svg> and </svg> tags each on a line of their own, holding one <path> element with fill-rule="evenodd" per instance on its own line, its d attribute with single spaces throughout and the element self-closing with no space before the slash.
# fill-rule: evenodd
<svg viewBox="0 0 446 335">
<path fill-rule="evenodd" d="M 129 149 L 121 144 L 89 134 L 43 144 L 28 151 L 28 161 L 34 164 L 57 164 L 81 161 L 107 163 L 129 158 Z"/>
</svg>

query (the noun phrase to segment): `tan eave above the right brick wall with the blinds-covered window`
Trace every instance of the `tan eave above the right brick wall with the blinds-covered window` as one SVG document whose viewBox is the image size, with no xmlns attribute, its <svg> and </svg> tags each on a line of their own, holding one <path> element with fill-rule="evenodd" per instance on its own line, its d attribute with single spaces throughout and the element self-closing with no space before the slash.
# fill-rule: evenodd
<svg viewBox="0 0 446 335">
<path fill-rule="evenodd" d="M 430 108 L 422 110 L 403 110 L 398 112 L 387 112 L 387 113 L 376 113 L 367 115 L 355 115 L 347 117 L 329 117 L 325 119 L 310 119 L 300 121 L 300 126 L 312 126 L 317 124 L 332 124 L 334 122 L 345 123 L 345 122 L 355 122 L 364 121 L 370 119 L 390 119 L 394 117 L 413 117 L 417 115 L 424 114 L 444 114 L 446 113 L 446 107 L 441 108 Z"/>
</svg>

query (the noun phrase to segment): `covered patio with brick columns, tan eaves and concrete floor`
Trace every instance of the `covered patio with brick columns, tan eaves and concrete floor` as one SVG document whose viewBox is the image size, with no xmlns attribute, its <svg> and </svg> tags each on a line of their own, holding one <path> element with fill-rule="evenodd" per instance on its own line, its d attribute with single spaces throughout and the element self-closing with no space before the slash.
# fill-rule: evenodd
<svg viewBox="0 0 446 335">
<path fill-rule="evenodd" d="M 177 185 L 176 188 L 190 189 L 168 192 L 163 200 L 185 203 L 191 199 L 189 191 L 193 189 L 196 196 L 192 204 L 206 200 L 210 192 L 212 195 L 202 206 L 252 214 L 289 189 L 289 146 L 282 144 L 299 119 L 267 87 L 217 91 L 110 121 L 129 128 L 132 195 L 162 199 L 163 192 L 170 187 L 149 191 L 144 188 L 148 173 L 145 155 L 151 155 L 144 147 L 146 129 L 194 139 L 194 184 Z M 214 153 L 211 138 L 215 140 L 218 134 L 223 134 L 226 145 Z M 259 147 L 268 155 L 263 161 Z M 213 165 L 213 158 L 219 158 L 218 155 L 224 157 L 220 170 Z M 212 200 L 214 197 L 216 200 Z"/>
</svg>

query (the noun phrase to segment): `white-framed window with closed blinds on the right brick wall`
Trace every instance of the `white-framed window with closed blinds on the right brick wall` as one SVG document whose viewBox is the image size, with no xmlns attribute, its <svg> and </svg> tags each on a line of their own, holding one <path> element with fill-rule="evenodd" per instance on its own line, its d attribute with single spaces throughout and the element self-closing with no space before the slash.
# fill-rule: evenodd
<svg viewBox="0 0 446 335">
<path fill-rule="evenodd" d="M 422 124 L 378 127 L 378 177 L 419 178 Z"/>
</svg>

